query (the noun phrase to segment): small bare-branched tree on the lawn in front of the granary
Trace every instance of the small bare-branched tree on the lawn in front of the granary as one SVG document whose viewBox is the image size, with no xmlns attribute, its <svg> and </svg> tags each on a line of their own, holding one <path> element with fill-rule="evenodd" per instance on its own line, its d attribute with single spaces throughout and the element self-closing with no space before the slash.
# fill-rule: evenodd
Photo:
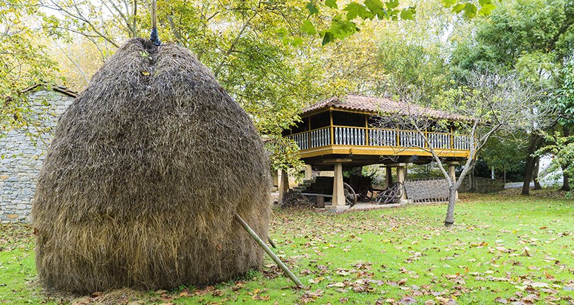
<svg viewBox="0 0 574 305">
<path fill-rule="evenodd" d="M 517 128 L 524 128 L 529 124 L 525 118 L 537 120 L 536 116 L 546 116 L 543 111 L 535 112 L 532 111 L 532 107 L 525 107 L 525 105 L 537 103 L 540 92 L 532 86 L 523 85 L 516 74 L 499 75 L 490 71 L 471 72 L 467 81 L 469 84 L 467 87 L 451 89 L 442 97 L 445 110 L 458 115 L 454 116 L 458 132 L 466 136 L 458 137 L 455 141 L 462 142 L 460 144 L 469 148 L 469 157 L 463 165 L 458 180 L 444 169 L 445 159 L 440 154 L 444 143 L 439 142 L 438 146 L 435 146 L 434 135 L 426 132 L 431 128 L 447 129 L 446 127 L 451 122 L 446 119 L 437 121 L 421 112 L 419 107 L 409 107 L 404 113 L 383 116 L 383 121 L 390 120 L 390 123 L 394 125 L 398 124 L 404 129 L 415 130 L 422 141 L 415 141 L 411 145 L 431 153 L 437 167 L 444 175 L 449 185 L 449 205 L 444 220 L 445 225 L 454 223 L 456 191 L 464 177 L 473 168 L 478 154 L 485 148 L 489 139 L 495 134 L 507 134 Z M 424 90 L 408 87 L 400 98 L 409 104 L 419 103 L 421 92 Z M 463 117 L 461 118 L 460 115 Z"/>
</svg>

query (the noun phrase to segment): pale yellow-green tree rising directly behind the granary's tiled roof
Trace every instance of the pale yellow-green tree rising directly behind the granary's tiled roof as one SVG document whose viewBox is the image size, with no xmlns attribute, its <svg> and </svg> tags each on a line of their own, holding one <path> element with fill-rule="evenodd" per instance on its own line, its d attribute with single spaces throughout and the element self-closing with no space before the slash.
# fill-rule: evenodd
<svg viewBox="0 0 574 305">
<path fill-rule="evenodd" d="M 379 92 L 397 95 L 395 83 L 424 89 L 421 101 L 435 105 L 437 96 L 455 85 L 449 78 L 448 56 L 451 40 L 457 33 L 453 26 L 464 27 L 468 19 L 451 15 L 440 6 L 440 1 L 418 4 L 416 22 L 399 22 L 385 27 L 379 40 L 378 60 L 388 75 Z"/>
</svg>

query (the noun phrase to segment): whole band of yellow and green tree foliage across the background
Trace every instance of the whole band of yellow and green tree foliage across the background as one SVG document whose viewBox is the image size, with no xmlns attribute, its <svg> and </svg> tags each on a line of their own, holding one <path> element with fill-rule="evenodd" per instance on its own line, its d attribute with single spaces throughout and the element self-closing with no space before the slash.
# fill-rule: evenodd
<svg viewBox="0 0 574 305">
<path fill-rule="evenodd" d="M 33 118 L 25 94 L 15 92 L 62 81 L 81 90 L 126 38 L 146 37 L 150 28 L 147 1 L 5 3 L 4 128 Z M 294 144 L 281 138 L 299 110 L 349 92 L 399 98 L 400 83 L 424 89 L 417 103 L 449 109 L 448 95 L 468 87 L 471 73 L 496 70 L 546 90 L 548 98 L 530 109 L 559 107 L 562 125 L 574 111 L 566 77 L 574 10 L 567 0 L 429 0 L 416 7 L 400 0 L 159 0 L 158 21 L 162 40 L 191 49 L 252 116 L 275 168 L 299 164 Z"/>
</svg>

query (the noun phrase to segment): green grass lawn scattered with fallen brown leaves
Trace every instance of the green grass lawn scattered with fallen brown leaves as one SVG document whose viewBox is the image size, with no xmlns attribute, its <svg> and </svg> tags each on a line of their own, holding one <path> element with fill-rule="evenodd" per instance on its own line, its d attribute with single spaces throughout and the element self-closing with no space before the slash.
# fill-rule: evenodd
<svg viewBox="0 0 574 305">
<path fill-rule="evenodd" d="M 465 195 L 446 205 L 344 214 L 274 211 L 275 250 L 306 289 L 267 259 L 260 272 L 215 287 L 116 290 L 72 303 L 574 304 L 574 201 Z M 31 227 L 0 227 L 0 303 L 48 304 L 34 284 Z"/>
</svg>

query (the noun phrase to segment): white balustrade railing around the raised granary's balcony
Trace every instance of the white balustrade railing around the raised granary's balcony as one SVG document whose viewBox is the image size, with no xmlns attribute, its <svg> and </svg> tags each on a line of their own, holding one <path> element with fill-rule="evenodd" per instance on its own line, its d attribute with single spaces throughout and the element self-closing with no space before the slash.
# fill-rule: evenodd
<svg viewBox="0 0 574 305">
<path fill-rule="evenodd" d="M 376 146 L 398 148 L 429 148 L 446 150 L 470 150 L 467 135 L 443 132 L 424 132 L 428 141 L 413 130 L 329 126 L 288 135 L 300 150 L 323 146 Z"/>
</svg>

